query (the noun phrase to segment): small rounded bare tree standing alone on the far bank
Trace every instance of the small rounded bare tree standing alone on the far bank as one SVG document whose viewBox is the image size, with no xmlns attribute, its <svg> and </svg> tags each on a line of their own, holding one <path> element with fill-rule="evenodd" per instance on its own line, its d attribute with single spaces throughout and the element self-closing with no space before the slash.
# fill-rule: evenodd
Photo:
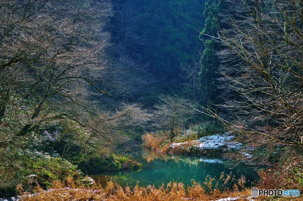
<svg viewBox="0 0 303 201">
<path fill-rule="evenodd" d="M 175 137 L 175 129 L 180 125 L 185 125 L 191 118 L 193 110 L 189 106 L 189 101 L 176 96 L 159 96 L 161 104 L 155 105 L 155 126 L 168 129 L 171 132 L 171 139 Z"/>
</svg>

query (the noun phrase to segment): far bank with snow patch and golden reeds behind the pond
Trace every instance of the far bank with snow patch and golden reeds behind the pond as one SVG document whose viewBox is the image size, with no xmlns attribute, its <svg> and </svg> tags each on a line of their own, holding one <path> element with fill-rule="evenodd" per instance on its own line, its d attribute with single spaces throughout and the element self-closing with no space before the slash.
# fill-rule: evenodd
<svg viewBox="0 0 303 201">
<path fill-rule="evenodd" d="M 167 139 L 166 133 L 145 133 L 142 136 L 143 146 L 162 153 L 185 155 L 224 156 L 225 153 L 238 153 L 243 158 L 252 158 L 247 147 L 236 141 L 235 133 L 202 133 L 195 129 L 178 131 L 173 139 Z"/>
</svg>

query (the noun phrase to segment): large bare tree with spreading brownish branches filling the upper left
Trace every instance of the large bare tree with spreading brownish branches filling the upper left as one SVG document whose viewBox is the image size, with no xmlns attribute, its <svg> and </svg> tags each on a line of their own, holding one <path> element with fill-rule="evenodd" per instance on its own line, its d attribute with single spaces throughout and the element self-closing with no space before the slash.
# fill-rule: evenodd
<svg viewBox="0 0 303 201">
<path fill-rule="evenodd" d="M 14 95 L 33 111 L 21 118 L 24 124 L 17 136 L 60 118 L 92 125 L 96 112 L 90 88 L 109 93 L 117 87 L 104 52 L 111 5 L 16 0 L 2 1 L 0 9 L 0 108 L 3 111 Z"/>
</svg>

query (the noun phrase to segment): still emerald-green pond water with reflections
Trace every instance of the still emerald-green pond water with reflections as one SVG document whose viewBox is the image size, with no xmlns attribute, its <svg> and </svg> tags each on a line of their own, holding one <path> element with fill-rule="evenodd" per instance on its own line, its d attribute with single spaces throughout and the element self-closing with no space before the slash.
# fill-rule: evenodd
<svg viewBox="0 0 303 201">
<path fill-rule="evenodd" d="M 95 174 L 93 179 L 100 180 L 106 186 L 106 180 L 112 179 L 114 183 L 122 187 L 126 185 L 135 187 L 139 181 L 139 186 L 166 185 L 169 181 L 178 181 L 186 185 L 191 185 L 192 180 L 204 182 L 205 177 L 210 175 L 219 180 L 221 172 L 225 175 L 232 172 L 236 179 L 245 175 L 246 186 L 251 186 L 251 181 L 258 179 L 258 174 L 254 168 L 239 166 L 230 169 L 232 166 L 228 160 L 207 159 L 201 156 L 180 156 L 162 154 L 157 152 L 145 151 L 141 161 L 143 168 L 138 172 L 120 171 L 108 174 Z"/>
</svg>

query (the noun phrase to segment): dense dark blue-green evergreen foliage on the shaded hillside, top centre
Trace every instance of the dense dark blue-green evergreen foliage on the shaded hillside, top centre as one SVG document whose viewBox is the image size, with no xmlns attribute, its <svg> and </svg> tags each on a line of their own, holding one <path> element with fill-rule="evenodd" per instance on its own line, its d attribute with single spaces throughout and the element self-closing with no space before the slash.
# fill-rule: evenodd
<svg viewBox="0 0 303 201">
<path fill-rule="evenodd" d="M 197 30 L 204 27 L 204 1 L 113 2 L 145 15 L 140 24 L 148 46 L 142 56 L 151 62 L 153 72 L 173 78 L 178 75 L 180 63 L 186 63 L 200 49 Z"/>
</svg>

